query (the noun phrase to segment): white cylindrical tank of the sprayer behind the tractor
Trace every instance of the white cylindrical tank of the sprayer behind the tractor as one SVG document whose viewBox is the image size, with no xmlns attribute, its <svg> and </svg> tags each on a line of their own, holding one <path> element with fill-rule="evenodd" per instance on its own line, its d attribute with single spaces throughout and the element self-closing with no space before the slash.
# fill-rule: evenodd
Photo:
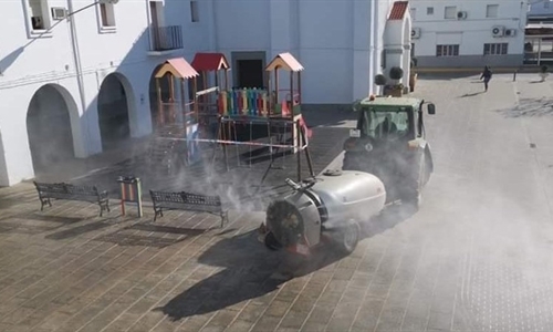
<svg viewBox="0 0 553 332">
<path fill-rule="evenodd" d="M 378 215 L 386 201 L 383 181 L 357 170 L 326 172 L 317 177 L 311 190 L 326 208 L 327 228 L 347 220 L 366 221 Z"/>
</svg>

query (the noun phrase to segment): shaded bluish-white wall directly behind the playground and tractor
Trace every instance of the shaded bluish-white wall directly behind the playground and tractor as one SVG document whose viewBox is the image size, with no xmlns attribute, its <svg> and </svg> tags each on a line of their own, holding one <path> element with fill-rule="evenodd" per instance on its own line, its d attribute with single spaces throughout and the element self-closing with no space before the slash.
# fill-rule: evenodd
<svg viewBox="0 0 553 332">
<path fill-rule="evenodd" d="M 375 53 L 383 48 L 390 2 L 216 1 L 215 50 L 227 56 L 233 51 L 265 52 L 267 62 L 280 52 L 291 52 L 305 68 L 304 103 L 351 103 L 373 91 L 379 65 L 373 63 L 379 61 Z M 376 22 L 374 10 L 378 10 Z M 374 35 L 373 25 L 378 27 Z"/>
</svg>

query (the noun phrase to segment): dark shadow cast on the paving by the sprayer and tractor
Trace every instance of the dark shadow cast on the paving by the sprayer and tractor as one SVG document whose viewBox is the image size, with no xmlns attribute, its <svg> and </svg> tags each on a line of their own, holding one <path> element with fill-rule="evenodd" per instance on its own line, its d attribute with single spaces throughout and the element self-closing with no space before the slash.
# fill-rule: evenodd
<svg viewBox="0 0 553 332">
<path fill-rule="evenodd" d="M 395 227 L 413 215 L 405 206 L 392 206 L 371 225 L 363 227 L 363 238 L 369 238 Z M 270 251 L 257 240 L 257 231 L 223 239 L 206 251 L 198 262 L 226 269 L 196 283 L 154 309 L 173 321 L 205 314 L 255 299 L 279 289 L 289 279 L 272 278 L 276 274 L 301 277 L 332 264 L 344 255 L 331 245 L 312 251 L 309 260 L 282 251 Z"/>
</svg>

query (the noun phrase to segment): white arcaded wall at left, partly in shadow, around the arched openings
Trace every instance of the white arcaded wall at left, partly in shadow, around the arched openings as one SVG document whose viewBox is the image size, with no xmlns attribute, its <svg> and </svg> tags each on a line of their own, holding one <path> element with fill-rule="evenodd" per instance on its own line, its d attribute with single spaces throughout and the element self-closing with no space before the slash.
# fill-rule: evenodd
<svg viewBox="0 0 553 332">
<path fill-rule="evenodd" d="M 48 0 L 52 7 L 69 8 L 67 0 Z M 72 1 L 73 11 L 93 0 Z M 148 80 L 155 66 L 167 58 L 185 55 L 189 61 L 197 51 L 208 50 L 212 23 L 207 9 L 208 1 L 200 4 L 200 21 L 191 22 L 188 1 L 165 0 L 165 23 L 181 25 L 185 49 L 173 54 L 148 55 L 149 4 L 146 0 L 119 1 L 114 7 L 115 31 L 104 31 L 98 25 L 98 9 L 93 6 L 76 13 L 73 19 L 76 45 L 81 60 L 83 97 L 77 84 L 77 65 L 73 58 L 70 23 L 53 21 L 52 29 L 43 35 L 31 34 L 25 24 L 31 9 L 25 1 L 2 1 L 0 31 L 3 34 L 0 48 L 0 124 L 2 124 L 3 156 L 8 175 L 0 175 L 0 185 L 11 185 L 34 176 L 29 141 L 27 137 L 27 112 L 34 92 L 45 84 L 59 84 L 66 91 L 66 101 L 73 105 L 73 138 L 75 156 L 86 157 L 102 151 L 97 94 L 103 79 L 116 73 L 124 83 L 129 104 L 129 126 L 133 137 L 150 133 L 150 108 Z M 25 15 L 27 14 L 27 15 Z M 2 149 L 0 149 L 2 151 Z M 0 167 L 2 169 L 2 167 Z"/>
</svg>

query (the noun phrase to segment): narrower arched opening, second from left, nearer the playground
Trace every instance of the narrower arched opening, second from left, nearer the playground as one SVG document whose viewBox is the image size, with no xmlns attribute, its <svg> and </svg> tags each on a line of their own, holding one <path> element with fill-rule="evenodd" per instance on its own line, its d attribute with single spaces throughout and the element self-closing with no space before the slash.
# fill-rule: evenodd
<svg viewBox="0 0 553 332">
<path fill-rule="evenodd" d="M 118 74 L 107 75 L 98 93 L 98 125 L 102 149 L 112 149 L 131 137 L 127 91 Z"/>
</svg>

